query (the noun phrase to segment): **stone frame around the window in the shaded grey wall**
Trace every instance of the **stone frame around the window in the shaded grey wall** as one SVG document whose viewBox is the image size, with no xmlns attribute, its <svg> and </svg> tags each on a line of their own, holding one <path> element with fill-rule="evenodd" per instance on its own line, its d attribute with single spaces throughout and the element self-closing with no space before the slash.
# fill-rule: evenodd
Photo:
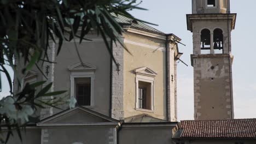
<svg viewBox="0 0 256 144">
<path fill-rule="evenodd" d="M 94 71 L 72 71 L 71 72 L 71 76 L 70 76 L 70 80 L 71 80 L 71 98 L 75 97 L 76 98 L 76 94 L 75 94 L 75 78 L 86 78 L 86 77 L 90 77 L 91 79 L 91 101 L 90 101 L 90 105 L 89 106 L 85 106 L 84 107 L 94 107 L 94 79 L 95 79 L 95 73 Z"/>
</svg>

